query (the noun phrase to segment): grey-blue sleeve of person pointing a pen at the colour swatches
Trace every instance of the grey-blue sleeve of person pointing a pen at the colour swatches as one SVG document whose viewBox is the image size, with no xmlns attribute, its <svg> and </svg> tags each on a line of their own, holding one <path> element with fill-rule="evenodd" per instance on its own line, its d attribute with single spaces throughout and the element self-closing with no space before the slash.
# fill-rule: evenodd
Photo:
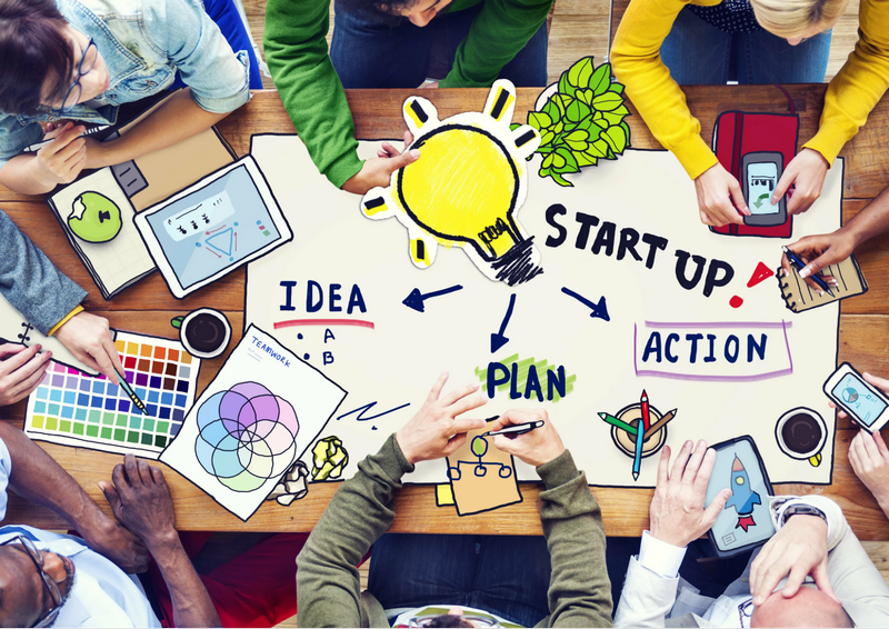
<svg viewBox="0 0 889 629">
<path fill-rule="evenodd" d="M 43 335 L 87 298 L 1 210 L 0 294 Z"/>
</svg>

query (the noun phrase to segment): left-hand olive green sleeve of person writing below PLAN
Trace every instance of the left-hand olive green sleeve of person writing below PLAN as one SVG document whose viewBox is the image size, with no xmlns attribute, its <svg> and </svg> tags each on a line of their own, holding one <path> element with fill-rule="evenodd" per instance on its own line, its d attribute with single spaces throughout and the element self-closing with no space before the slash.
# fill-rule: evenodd
<svg viewBox="0 0 889 629">
<path fill-rule="evenodd" d="M 297 557 L 299 627 L 362 626 L 356 566 L 392 523 L 392 497 L 410 471 L 392 435 L 333 495 Z"/>
</svg>

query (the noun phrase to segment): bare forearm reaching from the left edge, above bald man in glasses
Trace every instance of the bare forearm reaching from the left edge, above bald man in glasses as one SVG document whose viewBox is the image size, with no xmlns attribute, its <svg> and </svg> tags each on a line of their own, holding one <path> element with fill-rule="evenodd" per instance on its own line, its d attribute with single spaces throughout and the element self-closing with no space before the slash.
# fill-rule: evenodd
<svg viewBox="0 0 889 629">
<path fill-rule="evenodd" d="M 77 481 L 24 432 L 0 421 L 0 439 L 12 459 L 9 486 L 16 493 L 49 507 L 84 537 L 108 522 Z"/>
</svg>

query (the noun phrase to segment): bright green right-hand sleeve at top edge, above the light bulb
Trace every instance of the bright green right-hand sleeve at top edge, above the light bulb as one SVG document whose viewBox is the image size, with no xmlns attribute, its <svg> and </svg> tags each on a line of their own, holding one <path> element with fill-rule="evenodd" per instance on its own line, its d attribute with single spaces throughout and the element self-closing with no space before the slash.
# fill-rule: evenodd
<svg viewBox="0 0 889 629">
<path fill-rule="evenodd" d="M 442 88 L 486 88 L 547 20 L 552 0 L 485 0 Z"/>
</svg>

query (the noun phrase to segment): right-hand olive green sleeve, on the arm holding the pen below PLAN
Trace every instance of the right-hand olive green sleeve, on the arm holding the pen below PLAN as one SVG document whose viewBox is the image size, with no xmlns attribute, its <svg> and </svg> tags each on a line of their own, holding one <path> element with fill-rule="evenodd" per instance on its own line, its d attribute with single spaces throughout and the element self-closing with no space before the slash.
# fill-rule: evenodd
<svg viewBox="0 0 889 629">
<path fill-rule="evenodd" d="M 552 565 L 550 616 L 541 625 L 613 627 L 602 513 L 587 476 L 568 450 L 538 467 L 537 473 L 547 486 L 540 492 L 540 521 Z"/>
</svg>

